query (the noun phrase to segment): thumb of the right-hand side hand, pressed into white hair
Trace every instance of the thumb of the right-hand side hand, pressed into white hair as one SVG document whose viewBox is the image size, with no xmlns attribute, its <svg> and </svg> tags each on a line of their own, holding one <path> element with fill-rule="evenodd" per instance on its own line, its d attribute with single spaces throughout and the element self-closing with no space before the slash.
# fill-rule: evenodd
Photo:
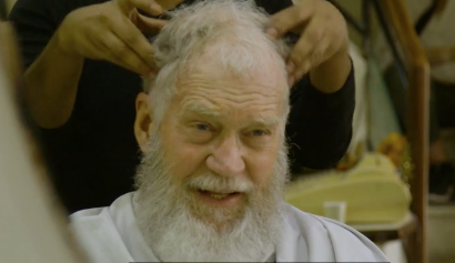
<svg viewBox="0 0 455 263">
<path fill-rule="evenodd" d="M 300 6 L 290 7 L 271 17 L 265 32 L 272 38 L 283 37 L 290 31 L 299 30 L 310 20 L 311 16 L 311 9 L 302 10 Z"/>
</svg>

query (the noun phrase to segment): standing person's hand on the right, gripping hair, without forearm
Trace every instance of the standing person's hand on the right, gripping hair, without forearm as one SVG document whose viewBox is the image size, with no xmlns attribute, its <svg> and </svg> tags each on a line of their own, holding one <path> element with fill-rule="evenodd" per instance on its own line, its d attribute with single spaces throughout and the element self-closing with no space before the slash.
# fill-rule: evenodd
<svg viewBox="0 0 455 263">
<path fill-rule="evenodd" d="M 346 22 L 325 0 L 300 0 L 272 16 L 270 36 L 280 38 L 291 31 L 301 34 L 287 61 L 291 85 L 322 63 L 347 54 Z"/>
</svg>

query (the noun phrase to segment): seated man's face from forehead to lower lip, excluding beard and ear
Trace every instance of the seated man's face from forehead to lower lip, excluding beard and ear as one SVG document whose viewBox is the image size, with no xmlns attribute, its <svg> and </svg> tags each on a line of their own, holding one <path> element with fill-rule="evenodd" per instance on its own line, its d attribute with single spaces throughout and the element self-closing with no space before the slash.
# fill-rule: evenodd
<svg viewBox="0 0 455 263">
<path fill-rule="evenodd" d="M 194 200 L 193 212 L 243 211 L 246 195 L 269 185 L 283 144 L 281 71 L 246 79 L 219 68 L 199 63 L 183 75 L 161 125 L 170 175 Z"/>
</svg>

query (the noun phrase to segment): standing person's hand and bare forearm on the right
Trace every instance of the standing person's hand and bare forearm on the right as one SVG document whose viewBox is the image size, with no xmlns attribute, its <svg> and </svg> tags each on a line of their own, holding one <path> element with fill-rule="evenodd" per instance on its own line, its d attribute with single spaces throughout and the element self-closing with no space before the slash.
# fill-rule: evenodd
<svg viewBox="0 0 455 263">
<path fill-rule="evenodd" d="M 347 27 L 333 4 L 325 0 L 300 0 L 272 16 L 267 32 L 275 38 L 286 32 L 301 34 L 287 61 L 291 84 L 310 73 L 313 85 L 323 92 L 343 87 L 351 72 Z"/>
</svg>

